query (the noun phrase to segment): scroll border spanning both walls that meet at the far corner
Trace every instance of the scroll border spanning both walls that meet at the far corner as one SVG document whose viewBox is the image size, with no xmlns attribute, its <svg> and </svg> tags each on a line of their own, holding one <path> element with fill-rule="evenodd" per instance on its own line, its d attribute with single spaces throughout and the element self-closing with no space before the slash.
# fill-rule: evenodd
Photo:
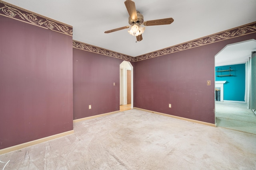
<svg viewBox="0 0 256 170">
<path fill-rule="evenodd" d="M 140 56 L 137 56 L 137 57 L 131 57 L 131 56 L 128 56 L 128 55 L 120 54 L 120 53 L 117 53 L 117 52 L 114 52 L 114 51 L 109 51 L 107 49 L 102 49 L 100 47 L 96 47 L 96 46 L 93 46 L 93 45 L 88 45 L 88 44 L 81 43 L 81 42 L 74 41 L 74 40 L 73 40 L 73 47 L 77 48 L 77 49 L 82 49 L 82 50 L 85 50 L 85 51 L 90 51 L 90 52 L 93 52 L 93 53 L 106 55 L 106 56 L 109 56 L 109 57 L 115 57 L 115 58 L 123 59 L 123 60 L 126 60 L 126 61 L 136 62 L 136 61 L 151 59 L 151 58 L 154 58 L 154 57 L 159 57 L 159 56 L 170 54 L 170 53 L 175 53 L 175 52 L 178 52 L 178 51 L 183 51 L 183 50 L 186 50 L 186 49 L 191 49 L 191 48 L 194 48 L 194 47 L 199 47 L 199 46 L 202 46 L 202 45 L 216 43 L 218 41 L 223 41 L 223 40 L 226 40 L 226 39 L 239 37 L 239 36 L 250 34 L 250 33 L 256 33 L 256 22 L 249 23 L 249 24 L 246 24 L 246 25 L 242 25 L 240 27 L 236 27 L 236 28 L 233 28 L 233 29 L 222 31 L 220 33 L 215 33 L 215 34 L 212 34 L 212 35 L 208 35 L 206 37 L 202 37 L 202 38 L 199 38 L 199 39 L 188 41 L 186 43 L 174 45 L 172 47 L 168 47 L 168 48 L 165 48 L 165 49 L 161 49 L 161 50 L 154 51 L 152 53 L 147 53 L 147 54 L 144 54 L 144 55 L 140 55 Z"/>
</svg>

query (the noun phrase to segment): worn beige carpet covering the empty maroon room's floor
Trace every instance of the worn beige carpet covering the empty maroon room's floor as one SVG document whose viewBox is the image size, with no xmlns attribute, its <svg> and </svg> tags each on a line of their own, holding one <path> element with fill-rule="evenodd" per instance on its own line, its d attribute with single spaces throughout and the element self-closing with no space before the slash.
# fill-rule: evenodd
<svg viewBox="0 0 256 170">
<path fill-rule="evenodd" d="M 0 155 L 10 160 L 4 170 L 256 168 L 256 135 L 136 109 L 75 123 L 74 131 Z"/>
</svg>

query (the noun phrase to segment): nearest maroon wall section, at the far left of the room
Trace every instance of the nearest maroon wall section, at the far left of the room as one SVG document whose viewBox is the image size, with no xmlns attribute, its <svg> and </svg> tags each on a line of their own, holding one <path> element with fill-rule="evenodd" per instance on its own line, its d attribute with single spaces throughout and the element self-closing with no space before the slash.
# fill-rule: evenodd
<svg viewBox="0 0 256 170">
<path fill-rule="evenodd" d="M 0 30 L 0 149 L 72 130 L 72 36 L 4 16 Z"/>
</svg>

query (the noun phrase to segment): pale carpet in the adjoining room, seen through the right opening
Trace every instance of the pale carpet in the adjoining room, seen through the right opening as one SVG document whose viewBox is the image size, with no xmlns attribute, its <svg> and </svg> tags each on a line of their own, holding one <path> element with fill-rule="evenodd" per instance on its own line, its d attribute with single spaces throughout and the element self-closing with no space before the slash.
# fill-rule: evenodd
<svg viewBox="0 0 256 170">
<path fill-rule="evenodd" d="M 215 102 L 218 127 L 256 134 L 256 115 L 246 103 Z"/>
</svg>

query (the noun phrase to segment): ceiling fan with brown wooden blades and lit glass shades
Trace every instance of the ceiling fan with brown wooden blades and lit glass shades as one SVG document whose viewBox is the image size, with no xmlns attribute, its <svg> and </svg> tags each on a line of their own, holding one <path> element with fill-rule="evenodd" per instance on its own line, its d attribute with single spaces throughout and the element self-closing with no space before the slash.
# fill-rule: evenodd
<svg viewBox="0 0 256 170">
<path fill-rule="evenodd" d="M 129 24 L 131 26 L 124 26 L 116 29 L 110 29 L 108 31 L 105 31 L 104 33 L 112 33 L 114 31 L 119 31 L 122 29 L 130 28 L 128 31 L 131 35 L 136 36 L 137 41 L 142 41 L 142 33 L 145 30 L 144 26 L 150 26 L 150 25 L 167 25 L 171 24 L 174 20 L 173 18 L 165 18 L 160 20 L 150 20 L 150 21 L 144 21 L 143 15 L 140 14 L 138 11 L 136 11 L 135 2 L 132 0 L 126 0 L 124 1 L 124 4 L 126 6 L 126 9 L 129 13 Z"/>
</svg>

